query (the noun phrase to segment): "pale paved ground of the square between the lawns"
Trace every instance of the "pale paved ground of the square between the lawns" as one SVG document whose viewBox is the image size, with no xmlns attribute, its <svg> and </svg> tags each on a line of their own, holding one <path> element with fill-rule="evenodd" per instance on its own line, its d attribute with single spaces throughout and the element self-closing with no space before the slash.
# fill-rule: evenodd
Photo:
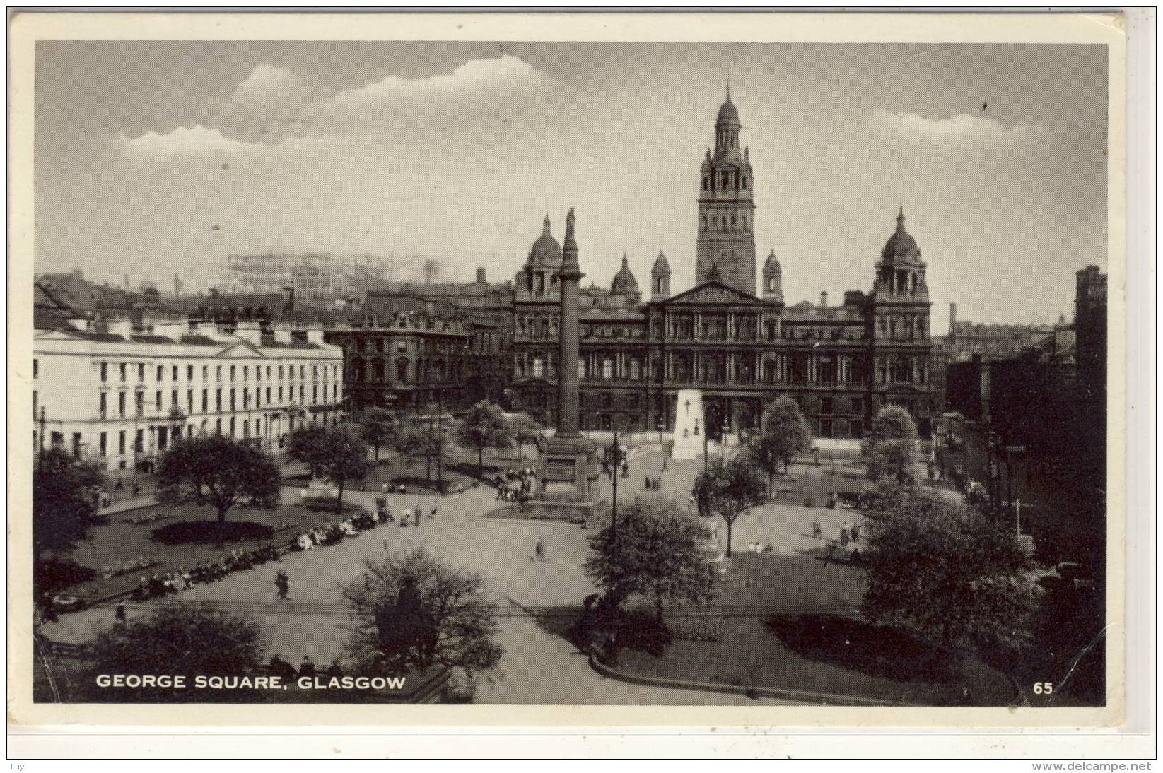
<svg viewBox="0 0 1163 773">
<path fill-rule="evenodd" d="M 661 470 L 658 452 L 644 451 L 630 464 L 632 475 L 620 479 L 627 485 L 620 499 L 643 493 L 642 480 L 648 470 L 663 475 L 663 493 L 684 495 L 690 489 L 693 474 L 701 471 L 701 463 L 670 461 L 670 470 Z M 687 468 L 690 467 L 690 468 Z M 608 481 L 602 479 L 605 485 Z M 685 487 L 685 491 L 684 491 Z M 374 493 L 351 492 L 350 501 L 373 507 Z M 443 498 L 433 495 L 391 494 L 392 513 L 400 518 L 405 508 L 422 507 L 427 513 L 433 503 L 438 507 L 436 518 L 427 515 L 421 525 L 400 528 L 381 525 L 340 545 L 288 553 L 284 564 L 291 577 L 291 602 L 281 604 L 276 599 L 276 565 L 266 564 L 254 571 L 231 574 L 221 582 L 198 586 L 183 592 L 180 601 L 213 601 L 229 609 L 236 607 L 254 614 L 264 630 L 267 654 L 278 652 L 292 663 L 309 656 L 316 664 L 329 664 L 342 653 L 347 638 L 342 614 L 302 614 L 292 611 L 298 603 L 342 604 L 341 584 L 358 578 L 363 559 L 380 556 L 385 550 L 394 554 L 423 544 L 435 556 L 456 566 L 477 571 L 487 578 L 487 587 L 499 603 L 522 606 L 577 606 L 593 592 L 583 570 L 588 552 L 588 532 L 577 525 L 559 522 L 513 521 L 485 518 L 486 513 L 500 503 L 494 492 L 485 486 L 462 494 Z M 776 545 L 777 552 L 799 553 L 819 546 L 809 536 L 811 520 L 829 520 L 826 529 L 839 528 L 830 520 L 848 516 L 847 511 L 772 506 L 741 518 L 735 529 L 735 545 L 743 546 L 752 539 L 764 539 Z M 725 534 L 725 531 L 723 531 Z M 834 536 L 834 535 L 833 535 Z M 545 545 L 545 563 L 533 560 L 537 538 Z M 259 604 L 257 614 L 252 610 Z M 145 614 L 149 603 L 129 604 L 129 615 Z M 50 627 L 49 635 L 60 640 L 80 642 L 93 636 L 94 630 L 110 625 L 113 609 L 99 607 L 72 615 L 62 615 Z M 752 701 L 740 695 L 675 690 L 662 687 L 630 685 L 606 679 L 590 668 L 585 656 L 559 636 L 543 630 L 531 618 L 505 618 L 500 625 L 500 642 L 506 649 L 501 663 L 502 677 L 494 685 L 483 685 L 483 703 L 594 703 L 594 704 L 750 704 L 779 703 L 761 699 Z"/>
</svg>

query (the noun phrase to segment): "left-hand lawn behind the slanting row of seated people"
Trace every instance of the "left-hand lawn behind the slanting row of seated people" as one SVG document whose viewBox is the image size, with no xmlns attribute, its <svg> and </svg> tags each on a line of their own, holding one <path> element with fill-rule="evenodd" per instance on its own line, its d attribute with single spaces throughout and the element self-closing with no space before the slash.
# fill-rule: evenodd
<svg viewBox="0 0 1163 773">
<path fill-rule="evenodd" d="M 156 541 L 152 536 L 155 529 L 163 529 L 183 521 L 216 522 L 215 511 L 209 507 L 156 504 L 114 513 L 108 516 L 105 524 L 90 530 L 90 539 L 78 543 L 77 549 L 65 556 L 65 558 L 71 558 L 98 572 L 97 578 L 76 585 L 66 593 L 87 600 L 131 591 L 143 574 L 149 577 L 154 572 L 172 572 L 179 567 L 190 568 L 199 561 L 217 560 L 237 547 L 250 550 L 266 544 L 281 547 L 290 543 L 292 537 L 307 529 L 336 523 L 342 517 L 341 517 L 335 513 L 334 503 L 319 508 L 306 507 L 292 499 L 293 495 L 293 491 L 284 489 L 284 502 L 273 510 L 233 508 L 227 514 L 228 524 L 258 523 L 274 529 L 274 535 L 266 539 L 228 542 L 223 547 L 216 547 L 214 544 L 167 545 Z M 157 515 L 169 517 L 149 523 L 135 524 L 130 522 L 131 518 Z M 120 577 L 100 577 L 101 567 L 116 566 L 138 557 L 156 559 L 159 564 Z"/>
</svg>

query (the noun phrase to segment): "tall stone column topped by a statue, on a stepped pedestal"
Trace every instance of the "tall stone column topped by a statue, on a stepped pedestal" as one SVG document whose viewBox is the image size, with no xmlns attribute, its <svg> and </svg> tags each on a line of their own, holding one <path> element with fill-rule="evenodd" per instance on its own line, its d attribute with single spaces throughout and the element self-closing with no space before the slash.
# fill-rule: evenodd
<svg viewBox="0 0 1163 773">
<path fill-rule="evenodd" d="M 543 517 L 588 518 L 595 506 L 593 481 L 599 474 L 595 448 L 578 427 L 578 284 L 583 275 L 570 209 L 557 274 L 562 289 L 557 325 L 557 431 L 547 441 L 541 457 L 537 495 L 522 508 Z"/>
</svg>

